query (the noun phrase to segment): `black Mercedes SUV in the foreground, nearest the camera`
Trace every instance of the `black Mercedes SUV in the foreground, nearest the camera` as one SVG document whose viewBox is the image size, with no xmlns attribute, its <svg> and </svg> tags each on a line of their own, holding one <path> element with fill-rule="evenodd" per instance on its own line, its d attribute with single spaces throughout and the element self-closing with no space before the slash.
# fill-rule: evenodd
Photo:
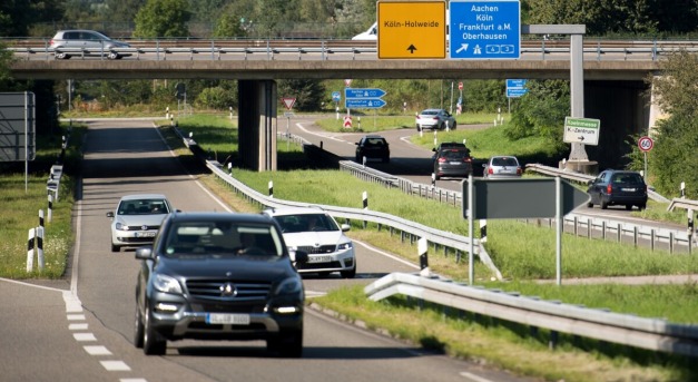
<svg viewBox="0 0 698 382">
<path fill-rule="evenodd" d="M 134 343 L 146 354 L 194 339 L 266 340 L 272 352 L 302 355 L 303 281 L 273 218 L 173 213 L 136 258 Z"/>
</svg>

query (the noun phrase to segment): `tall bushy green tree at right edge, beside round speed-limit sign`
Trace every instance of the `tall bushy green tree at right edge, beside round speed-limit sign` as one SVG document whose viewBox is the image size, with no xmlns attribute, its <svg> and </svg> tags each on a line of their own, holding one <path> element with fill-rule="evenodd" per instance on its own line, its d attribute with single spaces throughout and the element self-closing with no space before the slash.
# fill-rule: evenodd
<svg viewBox="0 0 698 382">
<path fill-rule="evenodd" d="M 669 118 L 657 124 L 650 174 L 666 195 L 677 195 L 681 182 L 698 198 L 698 57 L 686 51 L 661 61 L 661 76 L 650 77 L 658 106 Z"/>
</svg>

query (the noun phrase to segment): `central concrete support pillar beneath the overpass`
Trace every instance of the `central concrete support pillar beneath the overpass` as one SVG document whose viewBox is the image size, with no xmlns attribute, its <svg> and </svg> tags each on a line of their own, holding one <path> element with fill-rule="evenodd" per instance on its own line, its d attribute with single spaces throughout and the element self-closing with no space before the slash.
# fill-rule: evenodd
<svg viewBox="0 0 698 382">
<path fill-rule="evenodd" d="M 257 172 L 276 169 L 276 82 L 239 80 L 238 163 Z"/>
</svg>

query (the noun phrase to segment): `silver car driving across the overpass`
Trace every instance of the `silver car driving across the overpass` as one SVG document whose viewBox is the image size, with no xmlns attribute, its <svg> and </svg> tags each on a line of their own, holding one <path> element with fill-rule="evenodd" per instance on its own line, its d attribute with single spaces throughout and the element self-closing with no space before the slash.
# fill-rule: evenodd
<svg viewBox="0 0 698 382">
<path fill-rule="evenodd" d="M 130 48 L 124 41 L 111 38 L 94 30 L 59 30 L 51 39 L 51 49 L 57 59 L 69 59 L 71 56 L 98 56 L 111 60 L 131 56 L 122 50 Z"/>
</svg>

